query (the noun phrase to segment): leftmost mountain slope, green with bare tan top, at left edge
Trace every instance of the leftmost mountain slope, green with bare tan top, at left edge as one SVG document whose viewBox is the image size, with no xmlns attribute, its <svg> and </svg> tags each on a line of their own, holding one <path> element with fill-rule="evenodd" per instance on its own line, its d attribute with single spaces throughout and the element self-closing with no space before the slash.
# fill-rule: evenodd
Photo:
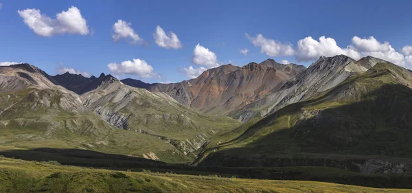
<svg viewBox="0 0 412 193">
<path fill-rule="evenodd" d="M 2 149 L 80 148 L 137 157 L 152 152 L 165 161 L 187 159 L 161 139 L 111 126 L 84 108 L 80 96 L 54 85 L 34 66 L 0 67 L 0 76 Z"/>
</svg>

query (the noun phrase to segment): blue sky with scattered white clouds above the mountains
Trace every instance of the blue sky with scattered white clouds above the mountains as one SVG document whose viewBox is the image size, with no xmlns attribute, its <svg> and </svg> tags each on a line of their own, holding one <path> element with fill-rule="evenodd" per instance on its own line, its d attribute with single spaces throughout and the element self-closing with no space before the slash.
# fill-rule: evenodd
<svg viewBox="0 0 412 193">
<path fill-rule="evenodd" d="M 0 62 L 30 63 L 49 74 L 72 68 L 95 76 L 104 72 L 146 82 L 179 82 L 229 62 L 242 66 L 274 58 L 307 66 L 319 56 L 336 54 L 355 59 L 372 55 L 412 66 L 412 1 L 0 3 Z M 65 23 L 69 16 L 56 19 L 72 6 L 85 25 L 76 19 Z M 32 15 L 23 12 L 27 9 L 39 10 L 53 31 L 41 34 L 30 28 L 25 19 Z M 119 20 L 134 30 L 135 39 L 114 38 L 113 25 Z M 158 25 L 168 38 L 173 32 L 179 43 L 166 39 L 159 46 L 153 36 Z M 325 38 L 319 40 L 321 36 Z M 246 56 L 240 49 L 248 50 Z"/>
</svg>

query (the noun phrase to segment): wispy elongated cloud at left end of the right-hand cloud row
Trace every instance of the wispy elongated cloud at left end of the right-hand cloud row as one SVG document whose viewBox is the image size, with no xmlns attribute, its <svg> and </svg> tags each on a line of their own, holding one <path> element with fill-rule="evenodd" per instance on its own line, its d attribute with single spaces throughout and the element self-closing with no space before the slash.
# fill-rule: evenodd
<svg viewBox="0 0 412 193">
<path fill-rule="evenodd" d="M 268 56 L 291 56 L 295 53 L 292 45 L 265 38 L 262 34 L 258 34 L 255 37 L 251 37 L 249 34 L 245 35 L 253 45 L 260 47 L 260 52 L 265 53 Z"/>
</svg>

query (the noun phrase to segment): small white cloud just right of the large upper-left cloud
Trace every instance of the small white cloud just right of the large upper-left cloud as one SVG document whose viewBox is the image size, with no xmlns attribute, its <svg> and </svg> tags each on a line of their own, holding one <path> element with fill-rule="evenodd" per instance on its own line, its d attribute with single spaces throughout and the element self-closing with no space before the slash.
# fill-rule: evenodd
<svg viewBox="0 0 412 193">
<path fill-rule="evenodd" d="M 113 40 L 119 41 L 121 38 L 130 38 L 133 43 L 142 42 L 143 39 L 139 37 L 139 34 L 135 33 L 132 27 L 132 24 L 119 19 L 115 24 L 113 24 L 113 31 L 115 32 L 112 35 Z"/>
</svg>

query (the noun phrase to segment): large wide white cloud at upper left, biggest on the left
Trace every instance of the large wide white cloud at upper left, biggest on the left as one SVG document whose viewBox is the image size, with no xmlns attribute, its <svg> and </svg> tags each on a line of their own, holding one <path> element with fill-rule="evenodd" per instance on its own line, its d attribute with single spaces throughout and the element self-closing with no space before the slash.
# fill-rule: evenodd
<svg viewBox="0 0 412 193">
<path fill-rule="evenodd" d="M 56 19 L 41 14 L 40 10 L 36 9 L 18 10 L 17 12 L 23 18 L 24 23 L 40 36 L 89 34 L 86 20 L 80 14 L 80 10 L 74 6 L 56 14 Z"/>
</svg>

